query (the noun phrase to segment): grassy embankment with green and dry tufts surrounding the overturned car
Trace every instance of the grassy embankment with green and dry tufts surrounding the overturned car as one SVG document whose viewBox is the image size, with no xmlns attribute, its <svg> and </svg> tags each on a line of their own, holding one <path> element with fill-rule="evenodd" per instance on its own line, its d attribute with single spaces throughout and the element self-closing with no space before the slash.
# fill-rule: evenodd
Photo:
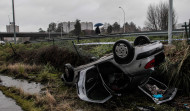
<svg viewBox="0 0 190 111">
<path fill-rule="evenodd" d="M 117 39 L 119 38 L 83 40 L 81 42 L 110 42 Z M 131 40 L 133 38 L 129 38 L 129 41 Z M 59 47 L 51 46 L 48 43 L 13 45 L 16 49 L 16 55 L 8 44 L 0 46 L 1 73 L 47 84 L 46 93 L 42 95 L 24 94 L 20 93 L 22 91 L 18 89 L 7 89 L 1 86 L 0 89 L 3 93 L 14 98 L 24 110 L 135 110 L 136 106 L 143 105 L 153 106 L 156 110 L 171 111 L 175 109 L 174 106 L 183 107 L 181 105 L 183 103 L 174 106 L 171 103 L 155 105 L 152 100 L 138 92 L 122 97 L 113 97 L 104 104 L 81 101 L 76 94 L 76 89 L 65 86 L 60 80 L 63 65 L 68 62 L 74 66 L 87 63 L 91 54 L 101 57 L 106 53 L 110 53 L 112 45 L 79 47 L 80 52 L 86 50 L 80 53 L 82 58 L 79 58 L 71 48 L 73 47 L 71 42 L 57 44 L 59 44 Z M 189 49 L 183 42 L 174 44 L 174 47 L 166 48 L 166 62 L 158 68 L 155 77 L 171 86 L 178 86 L 183 95 L 188 95 L 188 84 L 190 84 Z M 31 102 L 30 106 L 27 106 L 29 102 Z"/>
</svg>

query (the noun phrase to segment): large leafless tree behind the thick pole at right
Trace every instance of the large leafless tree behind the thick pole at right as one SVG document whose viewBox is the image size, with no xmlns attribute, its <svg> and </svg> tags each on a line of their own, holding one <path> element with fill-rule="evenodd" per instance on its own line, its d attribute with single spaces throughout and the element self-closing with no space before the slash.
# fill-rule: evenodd
<svg viewBox="0 0 190 111">
<path fill-rule="evenodd" d="M 147 21 L 145 26 L 148 30 L 167 30 L 168 28 L 169 4 L 160 2 L 158 5 L 149 5 L 147 11 Z M 177 22 L 175 10 L 173 9 L 173 28 Z"/>
</svg>

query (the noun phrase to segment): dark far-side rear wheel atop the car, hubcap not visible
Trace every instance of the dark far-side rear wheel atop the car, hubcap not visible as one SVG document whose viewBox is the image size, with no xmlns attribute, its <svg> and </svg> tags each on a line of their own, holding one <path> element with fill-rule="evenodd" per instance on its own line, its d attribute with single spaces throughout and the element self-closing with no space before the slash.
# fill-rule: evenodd
<svg viewBox="0 0 190 111">
<path fill-rule="evenodd" d="M 150 39 L 147 36 L 138 36 L 134 41 L 134 46 L 144 45 L 150 43 Z"/>
</svg>

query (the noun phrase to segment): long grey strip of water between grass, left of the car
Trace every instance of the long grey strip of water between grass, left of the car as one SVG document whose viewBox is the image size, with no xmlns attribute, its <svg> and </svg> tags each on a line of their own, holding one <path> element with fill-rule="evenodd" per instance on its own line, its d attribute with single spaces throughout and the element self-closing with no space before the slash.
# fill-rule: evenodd
<svg viewBox="0 0 190 111">
<path fill-rule="evenodd" d="M 43 88 L 43 85 L 40 83 L 31 82 L 29 83 L 26 80 L 21 79 L 13 79 L 8 76 L 0 75 L 0 79 L 2 82 L 0 82 L 0 85 L 6 86 L 6 87 L 16 87 L 21 88 L 24 90 L 24 92 L 34 94 L 39 93 L 40 90 Z"/>
</svg>

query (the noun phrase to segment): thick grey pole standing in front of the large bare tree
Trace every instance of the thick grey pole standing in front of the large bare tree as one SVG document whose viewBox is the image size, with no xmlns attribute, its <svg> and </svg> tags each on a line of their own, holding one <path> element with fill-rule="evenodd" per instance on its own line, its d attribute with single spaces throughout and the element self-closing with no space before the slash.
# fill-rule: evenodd
<svg viewBox="0 0 190 111">
<path fill-rule="evenodd" d="M 173 25 L 173 0 L 169 0 L 169 12 L 168 12 L 168 43 L 172 44 L 172 25 Z"/>
</svg>

